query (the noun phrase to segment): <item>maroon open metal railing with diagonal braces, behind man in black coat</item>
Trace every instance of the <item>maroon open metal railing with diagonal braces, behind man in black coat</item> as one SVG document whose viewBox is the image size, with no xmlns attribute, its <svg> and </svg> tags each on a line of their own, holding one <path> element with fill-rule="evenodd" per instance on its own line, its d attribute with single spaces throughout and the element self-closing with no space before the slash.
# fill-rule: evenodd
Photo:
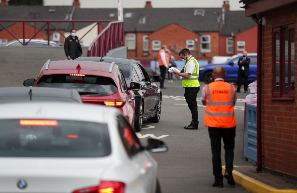
<svg viewBox="0 0 297 193">
<path fill-rule="evenodd" d="M 23 23 L 23 42 L 19 41 L 19 38 L 17 38 L 11 31 L 9 31 L 1 22 L 22 22 Z M 25 23 L 26 22 L 41 22 L 44 23 L 44 25 L 30 38 L 30 40 L 28 42 L 25 42 L 25 35 L 26 35 L 26 31 L 25 31 Z M 49 46 L 49 41 L 50 41 L 50 27 L 53 27 L 55 29 L 55 31 L 57 31 L 58 33 L 60 33 L 64 38 L 66 38 L 64 36 L 64 34 L 58 30 L 57 27 L 54 26 L 53 23 L 72 23 L 72 28 L 75 28 L 75 23 L 95 23 L 95 25 L 89 30 L 87 31 L 79 40 L 81 40 L 85 35 L 87 35 L 94 27 L 98 27 L 98 34 L 100 32 L 100 26 L 105 28 L 101 23 L 109 23 L 109 25 L 107 27 L 110 27 L 111 23 L 114 23 L 114 20 L 29 20 L 29 19 L 25 19 L 25 20 L 16 20 L 16 19 L 0 19 L 0 26 L 2 26 L 10 35 L 12 35 L 16 40 L 18 40 L 23 46 L 26 46 L 31 39 L 34 39 L 34 37 L 42 30 L 42 29 L 47 29 L 47 45 Z M 120 22 L 123 23 L 123 22 Z M 123 25 L 121 25 L 123 28 Z M 104 29 L 105 30 L 105 29 Z M 103 30 L 103 31 L 104 31 Z M 102 31 L 102 32 L 103 32 Z M 106 31 L 106 30 L 105 30 Z M 110 29 L 108 30 L 110 31 Z M 113 31 L 113 30 L 111 30 Z M 100 33 L 102 34 L 102 33 Z M 99 34 L 99 35 L 100 35 Z M 110 32 L 108 33 L 110 35 Z M 98 35 L 98 36 L 99 36 Z M 98 38 L 98 36 L 96 37 L 96 39 Z M 123 35 L 121 35 L 121 37 L 123 38 Z M 103 38 L 103 41 L 105 39 Z M 93 43 L 92 43 L 93 44 Z M 92 45 L 91 44 L 91 45 Z M 105 44 L 104 44 L 105 45 Z M 89 52 L 89 51 L 88 51 Z"/>
</svg>

